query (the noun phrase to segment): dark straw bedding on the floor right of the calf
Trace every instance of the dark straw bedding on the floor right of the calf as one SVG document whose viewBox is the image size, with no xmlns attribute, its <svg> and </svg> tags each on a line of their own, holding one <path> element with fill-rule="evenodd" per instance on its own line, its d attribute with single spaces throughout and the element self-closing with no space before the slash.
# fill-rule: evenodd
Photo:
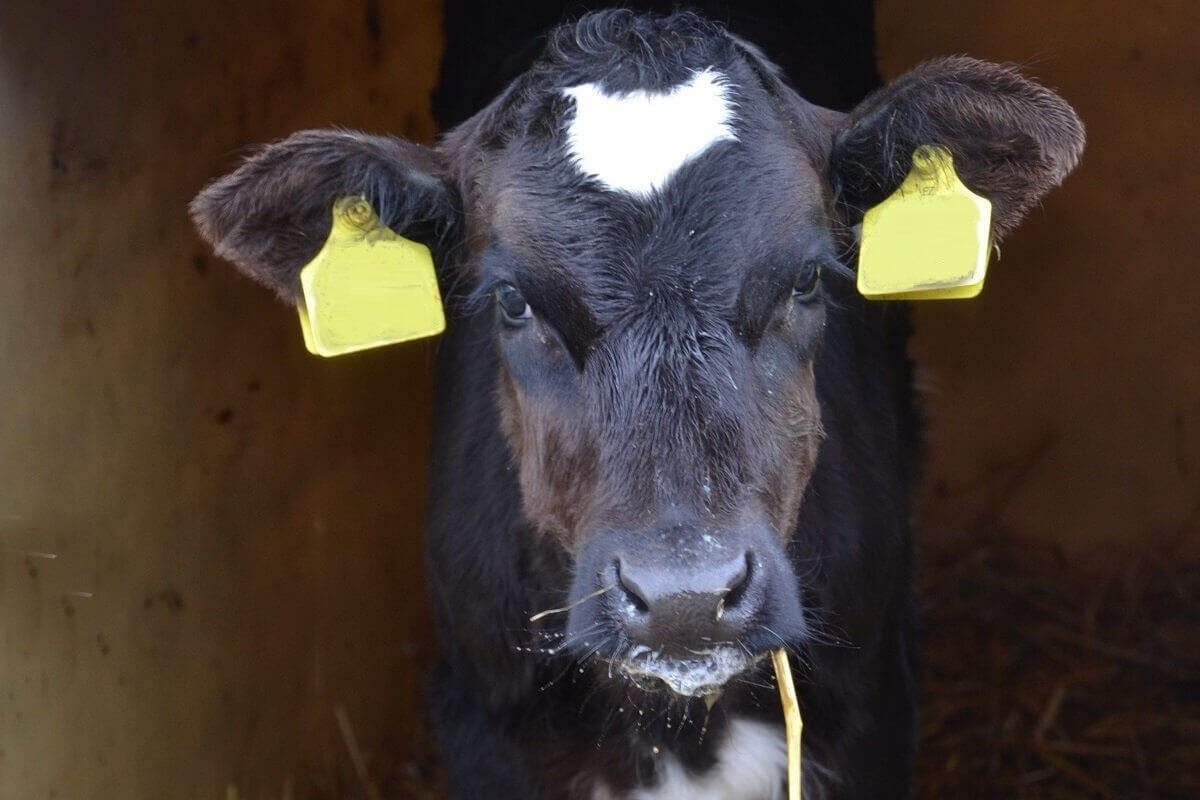
<svg viewBox="0 0 1200 800">
<path fill-rule="evenodd" d="M 1200 798 L 1200 565 L 925 561 L 918 798 Z"/>
</svg>

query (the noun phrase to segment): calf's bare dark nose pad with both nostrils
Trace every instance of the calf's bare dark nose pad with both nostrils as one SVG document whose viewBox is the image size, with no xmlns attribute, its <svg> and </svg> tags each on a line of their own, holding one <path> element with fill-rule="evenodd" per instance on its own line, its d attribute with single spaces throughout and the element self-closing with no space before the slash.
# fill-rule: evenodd
<svg viewBox="0 0 1200 800">
<path fill-rule="evenodd" d="M 656 650 L 706 649 L 745 633 L 762 606 L 754 555 L 701 563 L 642 563 L 618 557 L 618 616 L 635 644 Z"/>
</svg>

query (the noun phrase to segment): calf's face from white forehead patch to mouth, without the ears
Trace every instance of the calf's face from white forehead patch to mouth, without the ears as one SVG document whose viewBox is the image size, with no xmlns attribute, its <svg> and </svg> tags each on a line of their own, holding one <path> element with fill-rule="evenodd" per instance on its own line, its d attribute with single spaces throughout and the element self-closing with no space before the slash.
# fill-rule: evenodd
<svg viewBox="0 0 1200 800">
<path fill-rule="evenodd" d="M 611 85 L 564 74 L 563 44 L 484 122 L 499 142 L 448 142 L 494 187 L 467 216 L 504 432 L 526 516 L 575 564 L 568 640 L 713 691 L 804 630 L 784 545 L 821 438 L 821 284 L 846 272 L 826 154 L 731 40 Z"/>
</svg>

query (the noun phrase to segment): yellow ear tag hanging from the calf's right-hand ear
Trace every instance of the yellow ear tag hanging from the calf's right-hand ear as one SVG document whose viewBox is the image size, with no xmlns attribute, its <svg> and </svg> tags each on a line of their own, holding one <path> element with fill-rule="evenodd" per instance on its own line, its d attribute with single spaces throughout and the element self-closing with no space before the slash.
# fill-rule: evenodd
<svg viewBox="0 0 1200 800">
<path fill-rule="evenodd" d="M 950 151 L 917 148 L 900 187 L 863 217 L 858 290 L 871 300 L 974 297 L 990 231 L 991 203 L 962 185 Z"/>
</svg>

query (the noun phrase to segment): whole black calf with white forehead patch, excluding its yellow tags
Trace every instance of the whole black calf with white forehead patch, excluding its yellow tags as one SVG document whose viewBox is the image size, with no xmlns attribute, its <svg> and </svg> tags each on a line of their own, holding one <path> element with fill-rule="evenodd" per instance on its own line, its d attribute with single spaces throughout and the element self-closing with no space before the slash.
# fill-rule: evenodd
<svg viewBox="0 0 1200 800">
<path fill-rule="evenodd" d="M 946 146 L 992 237 L 1074 167 L 1070 108 L 931 61 L 848 114 L 689 13 L 589 14 L 433 149 L 308 131 L 192 212 L 295 300 L 366 197 L 446 296 L 427 524 L 458 798 L 896 798 L 914 746 L 906 317 L 856 291 L 865 209 Z"/>
</svg>

